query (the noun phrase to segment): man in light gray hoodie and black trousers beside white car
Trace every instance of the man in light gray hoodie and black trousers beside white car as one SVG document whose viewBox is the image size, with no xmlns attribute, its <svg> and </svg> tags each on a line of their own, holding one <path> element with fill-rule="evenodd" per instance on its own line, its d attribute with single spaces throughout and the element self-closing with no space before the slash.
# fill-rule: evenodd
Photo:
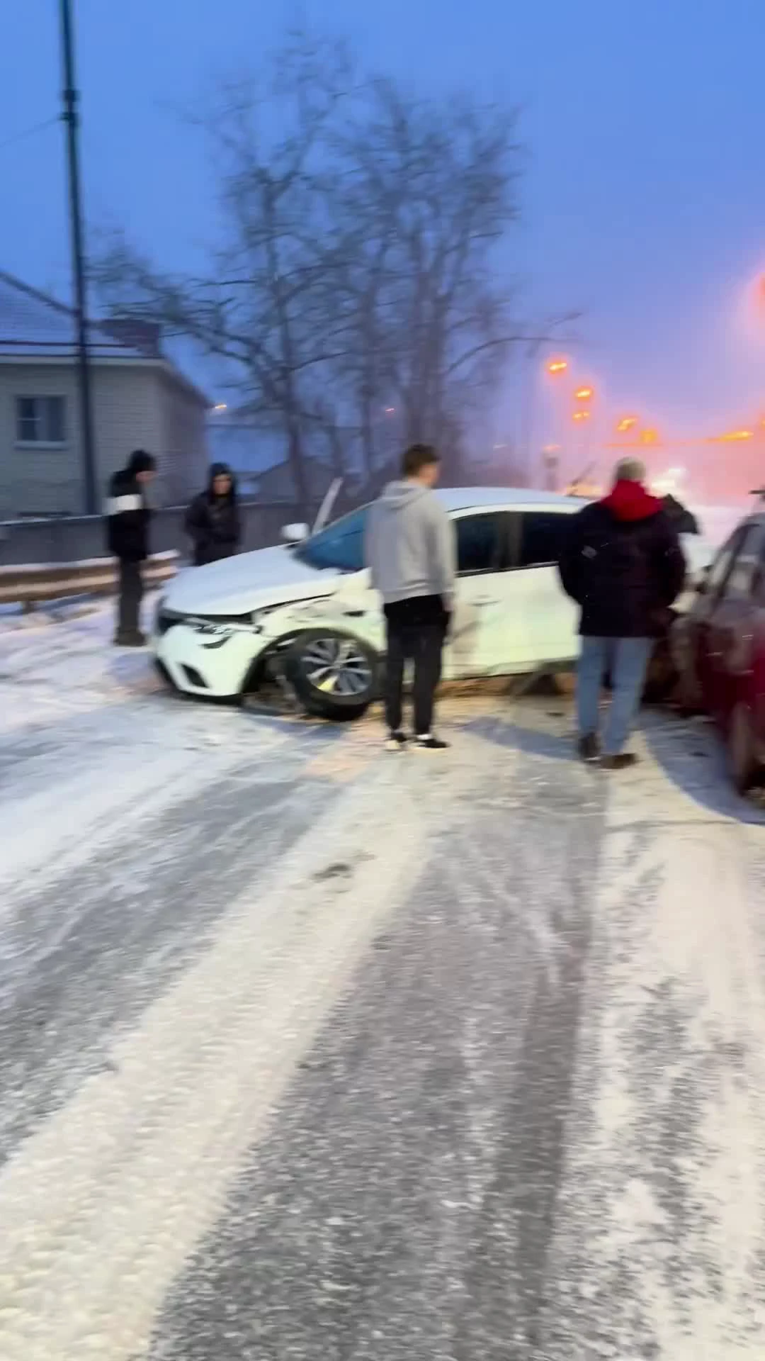
<svg viewBox="0 0 765 1361">
<path fill-rule="evenodd" d="M 402 480 L 391 482 L 369 514 L 366 561 L 372 584 L 385 608 L 388 656 L 385 666 L 387 746 L 402 751 L 404 663 L 414 661 L 414 746 L 444 751 L 448 746 L 432 731 L 433 701 L 441 679 L 441 653 L 455 597 L 455 534 L 433 486 L 438 455 L 427 444 L 404 453 Z"/>
</svg>

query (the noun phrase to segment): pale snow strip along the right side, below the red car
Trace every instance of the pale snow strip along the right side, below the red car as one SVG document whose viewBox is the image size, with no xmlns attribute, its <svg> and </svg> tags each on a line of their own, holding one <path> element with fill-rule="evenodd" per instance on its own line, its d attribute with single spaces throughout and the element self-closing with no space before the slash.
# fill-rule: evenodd
<svg viewBox="0 0 765 1361">
<path fill-rule="evenodd" d="M 540 1354 L 765 1354 L 761 833 L 614 781 Z"/>
</svg>

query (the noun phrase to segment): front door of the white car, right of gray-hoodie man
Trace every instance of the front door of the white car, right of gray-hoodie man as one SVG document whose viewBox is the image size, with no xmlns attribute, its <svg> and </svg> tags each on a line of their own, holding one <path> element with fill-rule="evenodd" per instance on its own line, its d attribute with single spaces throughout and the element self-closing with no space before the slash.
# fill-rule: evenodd
<svg viewBox="0 0 765 1361">
<path fill-rule="evenodd" d="M 446 676 L 502 674 L 506 668 L 509 524 L 505 510 L 464 510 L 453 520 L 457 581 L 444 653 Z"/>
</svg>

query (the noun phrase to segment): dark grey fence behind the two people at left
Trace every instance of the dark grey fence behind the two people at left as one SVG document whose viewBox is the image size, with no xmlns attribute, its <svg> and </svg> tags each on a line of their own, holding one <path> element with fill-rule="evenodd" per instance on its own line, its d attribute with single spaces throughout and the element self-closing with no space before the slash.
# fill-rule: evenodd
<svg viewBox="0 0 765 1361">
<path fill-rule="evenodd" d="M 304 517 L 286 501 L 245 501 L 240 504 L 240 510 L 245 553 L 279 543 L 282 527 Z M 312 516 L 317 510 L 319 506 L 312 506 Z M 186 555 L 189 542 L 184 534 L 182 506 L 165 506 L 155 512 L 151 547 L 154 553 Z M 79 563 L 94 558 L 108 559 L 101 516 L 0 521 L 0 568 Z"/>
</svg>

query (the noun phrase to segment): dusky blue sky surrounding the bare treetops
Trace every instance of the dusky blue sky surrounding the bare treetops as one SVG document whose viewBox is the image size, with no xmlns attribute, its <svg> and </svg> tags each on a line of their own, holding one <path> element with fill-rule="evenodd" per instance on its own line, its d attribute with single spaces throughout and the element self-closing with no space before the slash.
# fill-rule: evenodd
<svg viewBox="0 0 765 1361">
<path fill-rule="evenodd" d="M 174 267 L 212 231 L 201 142 L 174 113 L 241 72 L 280 0 L 76 0 L 88 216 Z M 527 310 L 579 308 L 581 376 L 694 434 L 765 414 L 740 298 L 765 269 L 765 5 L 758 0 L 321 0 L 362 60 L 427 93 L 524 106 L 523 222 L 505 253 Z M 0 7 L 0 267 L 68 287 L 54 0 Z"/>
</svg>

